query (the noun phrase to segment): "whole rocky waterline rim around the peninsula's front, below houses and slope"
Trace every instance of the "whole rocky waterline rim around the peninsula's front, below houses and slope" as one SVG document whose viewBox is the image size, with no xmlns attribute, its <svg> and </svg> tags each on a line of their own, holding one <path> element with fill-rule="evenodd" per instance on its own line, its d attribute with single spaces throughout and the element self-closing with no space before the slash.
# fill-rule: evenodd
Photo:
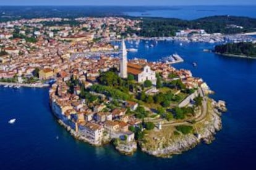
<svg viewBox="0 0 256 170">
<path fill-rule="evenodd" d="M 215 139 L 216 132 L 221 130 L 221 113 L 216 109 L 218 103 L 215 100 L 211 100 L 211 109 L 207 114 L 207 118 L 203 121 L 194 124 L 194 129 L 196 132 L 193 134 L 179 134 L 174 135 L 168 139 L 168 145 L 159 143 L 156 147 L 150 148 L 147 144 L 144 144 L 142 141 L 140 142 L 118 142 L 118 144 L 114 145 L 116 150 L 124 155 L 133 155 L 137 151 L 137 145 L 140 146 L 142 152 L 148 153 L 149 155 L 161 157 L 161 158 L 169 158 L 173 155 L 178 155 L 191 148 L 197 146 L 201 141 L 206 144 L 210 144 Z M 222 103 L 223 101 L 221 101 Z M 220 104 L 220 102 L 219 102 Z M 105 144 L 109 144 L 110 140 L 105 140 L 105 142 L 101 142 L 101 144 L 94 144 L 87 140 L 85 137 L 80 136 L 79 132 L 75 132 L 70 126 L 65 124 L 58 119 L 58 123 L 61 126 L 65 127 L 65 129 L 77 140 L 81 140 L 95 147 L 102 147 Z M 109 137 L 106 137 L 109 139 Z M 164 137 L 163 137 L 164 138 Z"/>
</svg>

